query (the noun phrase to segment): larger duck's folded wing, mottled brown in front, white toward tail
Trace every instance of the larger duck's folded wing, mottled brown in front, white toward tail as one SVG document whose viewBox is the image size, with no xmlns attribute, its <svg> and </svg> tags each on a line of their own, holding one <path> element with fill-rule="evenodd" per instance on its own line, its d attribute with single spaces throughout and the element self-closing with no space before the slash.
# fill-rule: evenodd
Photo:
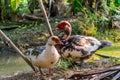
<svg viewBox="0 0 120 80">
<path fill-rule="evenodd" d="M 74 35 L 69 38 L 68 45 L 77 51 L 94 52 L 99 49 L 101 42 L 94 37 Z"/>
</svg>

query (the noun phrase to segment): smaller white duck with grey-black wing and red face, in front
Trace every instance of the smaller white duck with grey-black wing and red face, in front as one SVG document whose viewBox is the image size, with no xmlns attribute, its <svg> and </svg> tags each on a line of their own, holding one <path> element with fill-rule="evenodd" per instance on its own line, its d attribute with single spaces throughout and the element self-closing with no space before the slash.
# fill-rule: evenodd
<svg viewBox="0 0 120 80">
<path fill-rule="evenodd" d="M 57 36 L 52 36 L 48 39 L 45 47 L 38 47 L 26 51 L 31 62 L 39 68 L 41 74 L 43 74 L 41 68 L 48 68 L 49 72 L 51 72 L 50 68 L 52 68 L 60 58 L 54 46 L 56 44 L 62 44 L 62 42 Z"/>
</svg>

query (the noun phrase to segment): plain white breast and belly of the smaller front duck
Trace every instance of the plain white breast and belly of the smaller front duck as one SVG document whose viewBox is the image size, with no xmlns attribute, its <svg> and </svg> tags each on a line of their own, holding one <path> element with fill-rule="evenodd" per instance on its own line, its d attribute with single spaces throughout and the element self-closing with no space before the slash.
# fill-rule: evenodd
<svg viewBox="0 0 120 80">
<path fill-rule="evenodd" d="M 51 68 L 54 66 L 58 60 L 60 55 L 55 47 L 48 47 L 43 54 L 38 57 L 37 64 L 41 68 Z"/>
</svg>

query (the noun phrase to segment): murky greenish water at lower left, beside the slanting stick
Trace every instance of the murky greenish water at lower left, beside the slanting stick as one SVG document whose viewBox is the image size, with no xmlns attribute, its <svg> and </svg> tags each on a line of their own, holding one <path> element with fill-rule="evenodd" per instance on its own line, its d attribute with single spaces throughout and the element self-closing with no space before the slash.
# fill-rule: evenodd
<svg viewBox="0 0 120 80">
<path fill-rule="evenodd" d="M 0 55 L 0 75 L 30 70 L 32 69 L 21 57 L 16 55 Z"/>
</svg>

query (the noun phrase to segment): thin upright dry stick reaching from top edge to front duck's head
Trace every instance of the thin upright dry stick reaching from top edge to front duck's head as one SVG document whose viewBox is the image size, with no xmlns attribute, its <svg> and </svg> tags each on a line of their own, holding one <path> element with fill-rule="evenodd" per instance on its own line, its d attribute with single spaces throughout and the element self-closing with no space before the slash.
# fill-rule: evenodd
<svg viewBox="0 0 120 80">
<path fill-rule="evenodd" d="M 49 23 L 49 19 L 48 19 L 48 17 L 47 17 L 47 14 L 46 14 L 46 11 L 45 11 L 43 2 L 42 2 L 42 0 L 38 0 L 38 1 L 39 1 L 39 5 L 40 5 L 40 7 L 41 7 L 41 9 L 42 9 L 42 11 L 43 11 L 43 13 L 44 13 L 44 17 L 45 17 L 46 23 L 47 23 L 47 25 L 48 25 L 49 33 L 50 33 L 51 36 L 53 36 L 53 32 L 52 32 L 52 29 L 51 29 L 51 25 L 50 25 L 50 23 Z"/>
</svg>

